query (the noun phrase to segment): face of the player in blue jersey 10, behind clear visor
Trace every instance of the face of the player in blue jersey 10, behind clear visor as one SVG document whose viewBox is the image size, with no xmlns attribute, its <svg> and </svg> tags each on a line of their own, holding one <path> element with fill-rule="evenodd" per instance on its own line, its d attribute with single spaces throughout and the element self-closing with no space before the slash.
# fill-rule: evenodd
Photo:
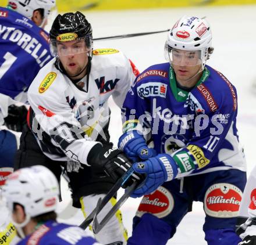
<svg viewBox="0 0 256 245">
<path fill-rule="evenodd" d="M 176 80 L 184 87 L 193 87 L 201 77 L 200 51 L 172 51 L 172 67 Z"/>
</svg>

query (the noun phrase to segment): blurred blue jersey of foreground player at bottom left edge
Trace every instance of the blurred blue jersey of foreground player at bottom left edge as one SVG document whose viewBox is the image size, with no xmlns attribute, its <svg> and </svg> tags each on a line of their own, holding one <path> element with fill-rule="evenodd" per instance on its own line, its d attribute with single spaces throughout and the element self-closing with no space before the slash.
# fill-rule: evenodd
<svg viewBox="0 0 256 245">
<path fill-rule="evenodd" d="M 17 245 L 100 245 L 78 226 L 48 221 Z"/>
</svg>

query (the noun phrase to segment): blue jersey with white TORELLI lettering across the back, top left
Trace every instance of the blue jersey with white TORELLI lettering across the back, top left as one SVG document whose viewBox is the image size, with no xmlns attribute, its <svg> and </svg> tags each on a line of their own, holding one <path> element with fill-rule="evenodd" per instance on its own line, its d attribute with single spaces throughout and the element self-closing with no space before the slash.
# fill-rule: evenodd
<svg viewBox="0 0 256 245">
<path fill-rule="evenodd" d="M 0 7 L 0 93 L 26 103 L 26 91 L 52 56 L 49 37 L 19 13 Z"/>
</svg>

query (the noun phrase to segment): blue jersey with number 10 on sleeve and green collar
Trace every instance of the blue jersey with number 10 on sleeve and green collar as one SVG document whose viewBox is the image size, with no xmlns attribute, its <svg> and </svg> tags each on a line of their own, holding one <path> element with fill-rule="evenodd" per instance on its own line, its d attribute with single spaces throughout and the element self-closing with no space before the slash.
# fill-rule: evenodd
<svg viewBox="0 0 256 245">
<path fill-rule="evenodd" d="M 137 129 L 179 166 L 177 177 L 236 168 L 246 171 L 236 128 L 237 93 L 227 78 L 205 66 L 190 91 L 177 87 L 169 63 L 141 73 L 122 109 L 123 131 Z"/>
</svg>

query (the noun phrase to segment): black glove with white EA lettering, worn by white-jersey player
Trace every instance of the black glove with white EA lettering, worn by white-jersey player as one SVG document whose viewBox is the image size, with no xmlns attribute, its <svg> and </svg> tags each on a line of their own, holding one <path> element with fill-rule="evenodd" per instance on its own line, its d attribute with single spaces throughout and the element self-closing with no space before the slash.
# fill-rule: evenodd
<svg viewBox="0 0 256 245">
<path fill-rule="evenodd" d="M 100 144 L 95 145 L 87 157 L 88 164 L 93 167 L 94 172 L 101 172 L 102 168 L 107 175 L 111 176 L 113 181 L 118 179 L 125 174 L 131 167 L 131 161 L 123 154 L 123 152 L 115 147 L 112 143 L 106 144 L 103 147 Z M 126 181 L 125 186 L 130 186 L 134 180 L 140 182 L 143 181 L 144 177 L 140 174 L 131 175 L 130 179 Z"/>
</svg>

